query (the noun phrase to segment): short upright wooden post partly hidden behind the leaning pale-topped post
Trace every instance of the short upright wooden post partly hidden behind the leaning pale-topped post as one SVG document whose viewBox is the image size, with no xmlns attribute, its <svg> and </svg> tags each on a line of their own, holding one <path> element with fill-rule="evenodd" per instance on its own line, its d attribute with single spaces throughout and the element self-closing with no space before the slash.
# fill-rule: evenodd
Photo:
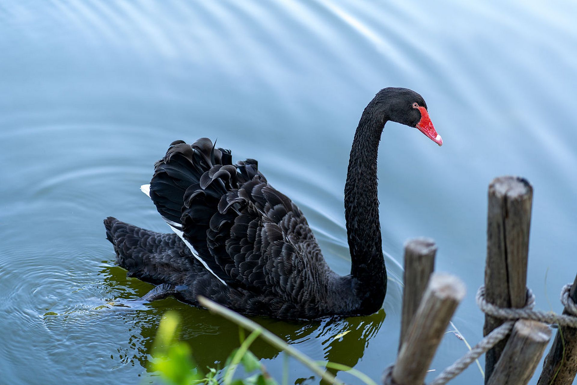
<svg viewBox="0 0 577 385">
<path fill-rule="evenodd" d="M 434 270 L 436 252 L 437 246 L 430 238 L 413 238 L 404 244 L 403 311 L 399 350 Z"/>
</svg>

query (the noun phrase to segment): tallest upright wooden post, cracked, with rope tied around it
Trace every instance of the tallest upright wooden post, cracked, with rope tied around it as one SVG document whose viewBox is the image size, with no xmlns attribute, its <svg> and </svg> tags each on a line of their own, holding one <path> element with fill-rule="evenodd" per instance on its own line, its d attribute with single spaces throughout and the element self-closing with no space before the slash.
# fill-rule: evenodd
<svg viewBox="0 0 577 385">
<path fill-rule="evenodd" d="M 527 253 L 533 188 L 518 177 L 495 178 L 489 185 L 485 298 L 501 308 L 522 308 L 527 300 Z M 503 320 L 485 315 L 483 334 Z M 507 338 L 486 354 L 485 383 Z"/>
</svg>

